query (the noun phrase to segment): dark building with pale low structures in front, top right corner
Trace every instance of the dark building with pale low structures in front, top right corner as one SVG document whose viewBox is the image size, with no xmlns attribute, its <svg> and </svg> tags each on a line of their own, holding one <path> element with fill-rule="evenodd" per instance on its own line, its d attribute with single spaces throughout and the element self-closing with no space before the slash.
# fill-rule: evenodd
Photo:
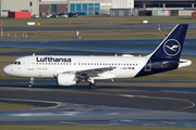
<svg viewBox="0 0 196 130">
<path fill-rule="evenodd" d="M 192 16 L 196 0 L 135 0 L 139 16 Z"/>
</svg>

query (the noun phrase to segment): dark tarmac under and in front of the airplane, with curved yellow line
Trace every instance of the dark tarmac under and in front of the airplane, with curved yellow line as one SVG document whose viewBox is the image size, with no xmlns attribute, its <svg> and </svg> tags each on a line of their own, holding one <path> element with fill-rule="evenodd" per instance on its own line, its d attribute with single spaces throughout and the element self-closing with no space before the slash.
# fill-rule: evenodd
<svg viewBox="0 0 196 130">
<path fill-rule="evenodd" d="M 56 80 L 27 84 L 1 79 L 0 101 L 57 106 L 0 112 L 0 123 L 196 127 L 196 88 L 99 86 L 93 91 L 88 84 L 58 87 Z"/>
</svg>

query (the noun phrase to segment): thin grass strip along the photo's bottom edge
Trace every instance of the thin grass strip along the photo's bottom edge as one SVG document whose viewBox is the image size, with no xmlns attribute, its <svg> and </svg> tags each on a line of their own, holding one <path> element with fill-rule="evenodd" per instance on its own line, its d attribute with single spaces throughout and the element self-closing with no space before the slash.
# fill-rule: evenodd
<svg viewBox="0 0 196 130">
<path fill-rule="evenodd" d="M 0 125 L 1 130 L 195 130 L 191 127 Z"/>
</svg>

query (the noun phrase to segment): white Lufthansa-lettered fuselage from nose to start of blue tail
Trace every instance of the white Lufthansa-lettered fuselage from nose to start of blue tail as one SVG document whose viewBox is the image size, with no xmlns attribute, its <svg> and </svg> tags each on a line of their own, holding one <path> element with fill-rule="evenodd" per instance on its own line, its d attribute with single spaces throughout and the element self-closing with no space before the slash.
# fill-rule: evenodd
<svg viewBox="0 0 196 130">
<path fill-rule="evenodd" d="M 132 78 L 144 67 L 148 56 L 66 56 L 33 55 L 15 60 L 3 68 L 8 75 L 17 77 L 54 78 L 64 72 L 79 72 L 102 67 L 115 67 L 94 79 Z"/>
</svg>

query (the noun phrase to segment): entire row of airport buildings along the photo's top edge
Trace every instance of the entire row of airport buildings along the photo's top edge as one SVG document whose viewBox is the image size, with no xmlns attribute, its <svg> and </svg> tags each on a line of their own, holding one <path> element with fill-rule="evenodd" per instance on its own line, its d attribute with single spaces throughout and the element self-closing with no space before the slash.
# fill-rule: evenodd
<svg viewBox="0 0 196 130">
<path fill-rule="evenodd" d="M 164 15 L 172 12 L 191 15 L 195 9 L 196 0 L 0 0 L 0 16 L 8 16 L 8 12 L 32 12 L 32 15 L 83 12 L 86 15 L 111 16 Z"/>
</svg>

